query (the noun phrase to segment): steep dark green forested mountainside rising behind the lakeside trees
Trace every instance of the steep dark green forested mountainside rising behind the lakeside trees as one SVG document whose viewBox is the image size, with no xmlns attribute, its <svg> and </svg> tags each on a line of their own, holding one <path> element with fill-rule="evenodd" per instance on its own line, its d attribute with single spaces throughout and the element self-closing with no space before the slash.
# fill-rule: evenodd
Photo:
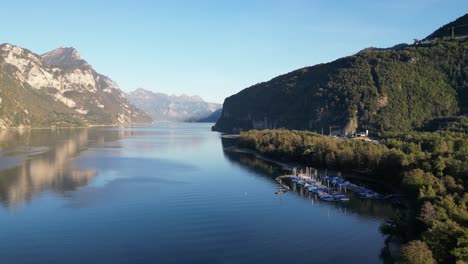
<svg viewBox="0 0 468 264">
<path fill-rule="evenodd" d="M 405 131 L 468 114 L 467 51 L 446 38 L 298 69 L 226 98 L 214 129 Z"/>
</svg>

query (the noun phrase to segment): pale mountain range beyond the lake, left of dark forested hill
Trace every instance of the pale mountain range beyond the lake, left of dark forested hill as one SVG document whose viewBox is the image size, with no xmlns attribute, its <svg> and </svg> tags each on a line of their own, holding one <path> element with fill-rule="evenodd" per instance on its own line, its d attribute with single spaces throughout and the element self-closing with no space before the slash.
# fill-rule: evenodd
<svg viewBox="0 0 468 264">
<path fill-rule="evenodd" d="M 0 45 L 0 128 L 216 122 L 220 108 L 199 96 L 126 95 L 71 47 L 37 55 Z"/>
</svg>

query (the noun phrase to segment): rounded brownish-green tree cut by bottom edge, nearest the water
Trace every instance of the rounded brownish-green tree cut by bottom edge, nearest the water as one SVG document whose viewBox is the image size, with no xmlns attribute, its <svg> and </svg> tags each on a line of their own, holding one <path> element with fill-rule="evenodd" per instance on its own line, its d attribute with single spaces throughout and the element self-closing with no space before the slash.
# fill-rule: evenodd
<svg viewBox="0 0 468 264">
<path fill-rule="evenodd" d="M 432 251 L 426 243 L 413 240 L 401 248 L 400 261 L 404 264 L 435 264 Z"/>
</svg>

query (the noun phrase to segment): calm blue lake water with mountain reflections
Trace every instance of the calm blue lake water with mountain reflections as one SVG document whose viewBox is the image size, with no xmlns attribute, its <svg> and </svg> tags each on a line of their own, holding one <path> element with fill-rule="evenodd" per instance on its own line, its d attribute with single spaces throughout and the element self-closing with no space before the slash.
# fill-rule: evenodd
<svg viewBox="0 0 468 264">
<path fill-rule="evenodd" d="M 224 144 L 228 144 L 224 141 Z M 0 263 L 379 263 L 391 207 L 275 195 L 210 124 L 0 131 Z"/>
</svg>

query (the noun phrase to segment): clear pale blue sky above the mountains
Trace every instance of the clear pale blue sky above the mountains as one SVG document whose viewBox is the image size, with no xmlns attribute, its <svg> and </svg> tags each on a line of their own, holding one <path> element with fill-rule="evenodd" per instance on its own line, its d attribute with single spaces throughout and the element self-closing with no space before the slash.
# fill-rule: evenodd
<svg viewBox="0 0 468 264">
<path fill-rule="evenodd" d="M 423 38 L 466 0 L 2 1 L 0 43 L 75 47 L 124 91 L 224 98 L 366 47 Z"/>
</svg>

